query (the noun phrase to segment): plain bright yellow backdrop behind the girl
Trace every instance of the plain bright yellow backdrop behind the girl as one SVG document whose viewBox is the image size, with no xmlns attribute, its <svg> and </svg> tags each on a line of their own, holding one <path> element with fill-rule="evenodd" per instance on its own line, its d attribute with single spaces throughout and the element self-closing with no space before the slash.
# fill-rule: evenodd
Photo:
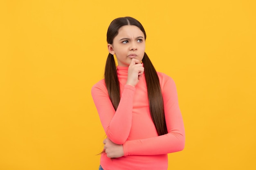
<svg viewBox="0 0 256 170">
<path fill-rule="evenodd" d="M 256 169 L 254 0 L 1 0 L 0 170 L 97 170 L 105 137 L 90 90 L 122 16 L 173 77 L 186 146 L 168 170 Z"/>
</svg>

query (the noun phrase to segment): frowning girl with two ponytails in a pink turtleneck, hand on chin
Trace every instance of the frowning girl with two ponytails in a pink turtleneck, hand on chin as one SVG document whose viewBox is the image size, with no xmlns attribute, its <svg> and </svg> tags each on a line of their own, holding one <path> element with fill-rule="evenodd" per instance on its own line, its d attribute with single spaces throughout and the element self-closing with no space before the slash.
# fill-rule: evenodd
<svg viewBox="0 0 256 170">
<path fill-rule="evenodd" d="M 117 18 L 108 27 L 105 79 L 92 87 L 107 135 L 99 170 L 167 170 L 167 154 L 184 148 L 175 83 L 155 71 L 145 40 L 134 18 Z"/>
</svg>

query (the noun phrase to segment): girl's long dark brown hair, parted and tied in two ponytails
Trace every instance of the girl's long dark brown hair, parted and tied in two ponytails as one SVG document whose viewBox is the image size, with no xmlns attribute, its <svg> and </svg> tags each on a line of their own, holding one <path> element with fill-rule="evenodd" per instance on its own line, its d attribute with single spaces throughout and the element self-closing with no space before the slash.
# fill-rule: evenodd
<svg viewBox="0 0 256 170">
<path fill-rule="evenodd" d="M 137 26 L 144 33 L 146 40 L 146 32 L 138 20 L 131 17 L 122 17 L 116 18 L 110 23 L 107 32 L 108 44 L 113 43 L 113 39 L 115 38 L 115 36 L 117 36 L 118 30 L 121 28 L 121 26 L 125 25 Z M 157 134 L 164 135 L 168 132 L 164 117 L 164 102 L 157 71 L 155 70 L 152 62 L 150 61 L 146 53 L 144 53 L 142 62 L 144 64 L 144 74 L 147 84 L 150 115 L 155 124 Z M 119 80 L 117 77 L 117 66 L 114 60 L 114 56 L 110 53 L 108 54 L 108 58 L 106 61 L 105 83 L 108 89 L 108 95 L 110 97 L 112 105 L 115 108 L 115 110 L 117 110 L 117 107 L 120 102 L 120 87 Z"/>
</svg>

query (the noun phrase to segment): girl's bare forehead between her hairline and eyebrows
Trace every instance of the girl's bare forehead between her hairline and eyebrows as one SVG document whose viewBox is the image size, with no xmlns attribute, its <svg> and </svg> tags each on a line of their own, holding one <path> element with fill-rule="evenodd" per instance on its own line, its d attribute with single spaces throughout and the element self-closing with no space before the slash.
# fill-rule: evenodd
<svg viewBox="0 0 256 170">
<path fill-rule="evenodd" d="M 144 33 L 135 25 L 125 25 L 118 30 L 117 37 L 144 37 Z"/>
</svg>

